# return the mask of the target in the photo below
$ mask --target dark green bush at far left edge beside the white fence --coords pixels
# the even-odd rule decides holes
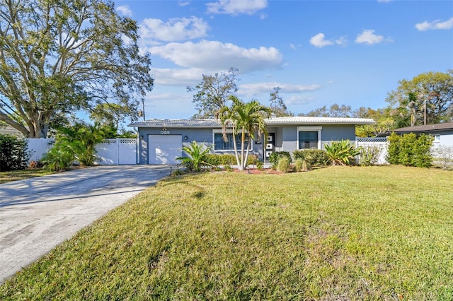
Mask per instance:
[[[24,170],[30,158],[27,150],[25,139],[0,134],[0,171]]]

